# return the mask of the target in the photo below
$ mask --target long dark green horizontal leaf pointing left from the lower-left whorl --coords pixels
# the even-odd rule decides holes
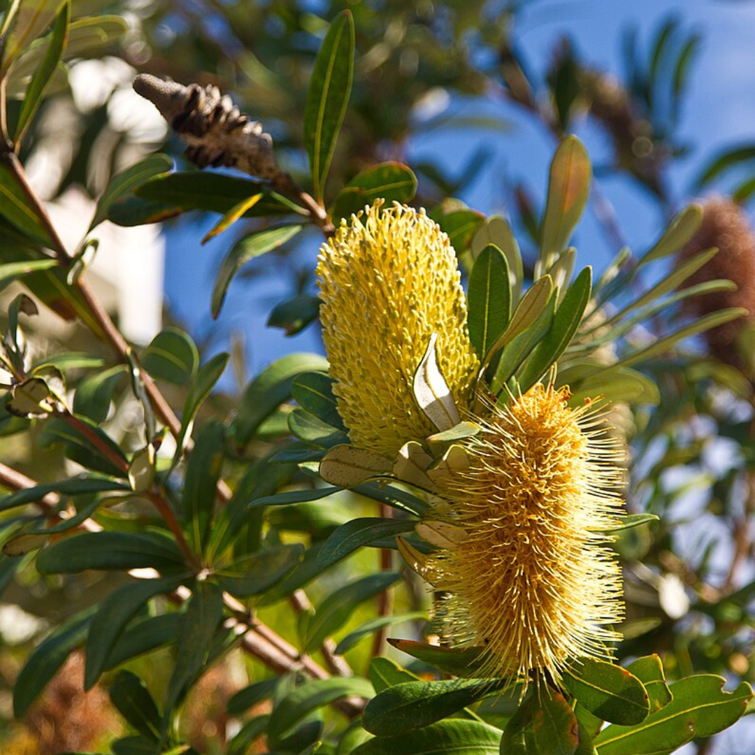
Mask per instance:
[[[78,574],[86,569],[124,572],[149,566],[175,571],[183,566],[183,556],[174,541],[154,532],[84,532],[37,556],[40,574]]]

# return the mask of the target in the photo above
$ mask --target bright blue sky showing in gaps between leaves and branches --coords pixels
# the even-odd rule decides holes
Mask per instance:
[[[755,2],[747,0],[539,0],[523,14],[519,24],[519,45],[541,71],[550,60],[556,42],[564,35],[574,42],[579,54],[593,66],[621,75],[621,32],[629,24],[639,29],[646,43],[658,23],[678,14],[683,29],[703,36],[700,54],[684,103],[680,135],[695,148],[692,155],[673,171],[673,196],[683,203],[689,185],[701,165],[724,146],[755,141]],[[529,116],[511,106],[492,106],[512,122],[505,134],[485,131],[446,132],[419,135],[408,150],[408,163],[427,157],[442,159],[451,171],[458,170],[485,140],[492,157],[479,180],[464,196],[471,206],[486,213],[506,213],[501,196],[501,174],[525,179],[538,199],[544,196],[547,168],[553,140]],[[606,150],[604,137],[578,129],[595,162]],[[602,193],[612,202],[622,233],[635,251],[650,245],[662,228],[657,205],[623,177],[600,180]],[[205,247],[199,239],[214,222],[203,226],[184,224],[168,233],[165,290],[171,310],[196,337],[207,338],[209,353],[229,348],[229,334],[242,334],[248,353],[250,374],[290,351],[319,348],[312,330],[293,338],[265,327],[270,309],[288,296],[291,282],[267,274],[256,281],[236,279],[230,286],[220,319],[212,322],[209,301],[217,266],[230,244],[220,236]],[[301,264],[313,265],[321,239],[310,236],[299,252]],[[615,253],[587,212],[576,236],[582,265],[605,266]],[[252,265],[259,265],[257,260]],[[230,385],[228,386],[230,387]]]

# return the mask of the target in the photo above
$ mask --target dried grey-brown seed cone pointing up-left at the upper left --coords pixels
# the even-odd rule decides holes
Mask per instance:
[[[238,168],[272,182],[284,179],[273,153],[273,139],[214,86],[183,86],[141,73],[134,91],[160,111],[189,147],[186,155],[200,168]]]

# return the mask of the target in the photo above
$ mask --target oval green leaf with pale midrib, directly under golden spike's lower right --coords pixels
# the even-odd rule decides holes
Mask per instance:
[[[593,715],[632,726],[650,712],[643,683],[629,671],[607,661],[582,658],[563,675],[563,685]]]

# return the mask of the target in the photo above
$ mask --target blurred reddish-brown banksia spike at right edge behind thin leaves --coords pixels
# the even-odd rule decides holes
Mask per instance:
[[[704,202],[702,225],[680,251],[678,261],[689,260],[713,247],[718,248],[718,254],[687,279],[686,285],[728,279],[735,282],[737,288],[689,297],[684,307],[689,315],[696,317],[727,307],[744,307],[749,316],[707,331],[705,340],[708,351],[716,359],[738,369],[749,369],[750,359],[745,358],[737,340],[741,331],[755,319],[755,236],[744,210],[726,197],[714,197]]]

